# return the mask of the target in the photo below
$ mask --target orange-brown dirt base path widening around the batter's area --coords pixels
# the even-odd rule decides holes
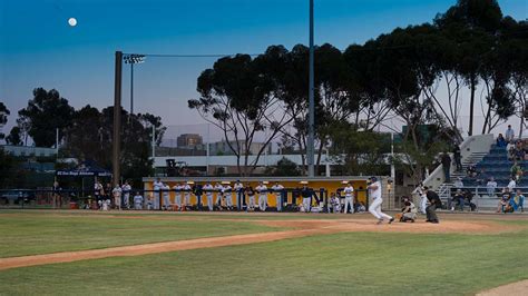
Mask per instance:
[[[186,217],[185,219],[187,219]],[[239,221],[239,219],[238,219]],[[56,263],[70,263],[87,259],[99,259],[108,257],[139,256],[166,251],[214,248],[224,246],[236,246],[255,243],[275,241],[289,238],[299,238],[312,235],[327,235],[346,231],[372,231],[372,233],[461,233],[461,234],[490,234],[502,231],[516,231],[521,229],[515,226],[505,226],[491,221],[463,221],[447,220],[441,224],[402,224],[375,225],[372,219],[335,219],[335,220],[258,220],[256,223],[271,227],[287,227],[289,230],[257,233],[246,235],[233,235],[223,237],[207,237],[178,241],[151,243],[133,246],[110,247],[104,249],[62,251],[43,255],[0,258],[0,270],[17,267],[37,266]],[[293,229],[292,229],[293,228]]]

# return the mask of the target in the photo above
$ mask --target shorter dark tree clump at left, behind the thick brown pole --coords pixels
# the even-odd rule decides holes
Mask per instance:
[[[2,135],[7,144],[27,145],[30,138],[37,147],[55,147],[58,129],[60,157],[91,160],[102,168],[111,169],[114,106],[101,110],[90,105],[75,109],[55,89],[36,88],[32,95],[27,107],[18,111],[17,125],[9,135]],[[0,108],[3,108],[3,115],[10,114],[3,103]],[[0,119],[3,125],[7,122],[7,117]],[[166,129],[160,117],[150,114],[130,115],[121,108],[120,162],[124,178],[140,180],[141,177],[153,176],[153,126],[159,144]],[[9,161],[13,167],[13,161]]]

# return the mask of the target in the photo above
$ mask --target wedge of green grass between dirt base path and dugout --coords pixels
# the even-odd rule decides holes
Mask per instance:
[[[0,215],[0,257],[284,230],[251,221]]]

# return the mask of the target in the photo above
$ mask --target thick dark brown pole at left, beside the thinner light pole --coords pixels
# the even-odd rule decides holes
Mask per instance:
[[[114,80],[114,135],[113,135],[113,179],[114,185],[120,179],[120,152],[121,152],[121,72],[123,72],[123,52],[116,51],[116,68]]]

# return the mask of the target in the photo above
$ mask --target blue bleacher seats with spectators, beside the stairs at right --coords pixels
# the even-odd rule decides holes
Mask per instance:
[[[517,161],[522,171],[528,170],[528,160]],[[487,156],[476,165],[479,175],[477,177],[465,177],[462,179],[466,187],[486,187],[488,179],[493,177],[498,188],[506,187],[510,180],[512,160],[508,160],[506,148],[497,147],[495,144]],[[528,187],[528,176],[520,178],[518,187]]]

